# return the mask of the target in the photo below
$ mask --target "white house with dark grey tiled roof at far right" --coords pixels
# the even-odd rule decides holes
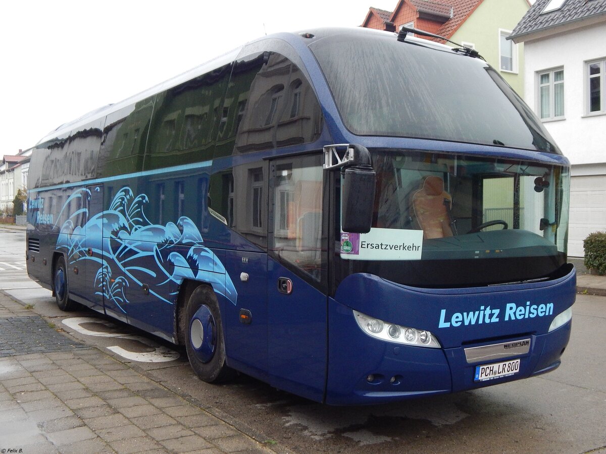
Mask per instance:
[[[606,0],[537,0],[524,42],[525,101],[572,164],[568,255],[606,231]]]

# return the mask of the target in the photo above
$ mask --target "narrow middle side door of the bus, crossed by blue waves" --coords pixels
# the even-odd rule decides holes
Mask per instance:
[[[85,224],[84,251],[87,255],[85,266],[86,301],[84,303],[103,312],[103,185],[87,186],[88,220]]]

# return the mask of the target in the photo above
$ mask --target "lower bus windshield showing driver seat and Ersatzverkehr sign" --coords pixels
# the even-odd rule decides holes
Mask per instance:
[[[441,287],[545,278],[564,265],[567,168],[437,152],[371,154],[372,228],[360,235],[357,254],[341,250],[344,272]],[[416,246],[377,254],[373,249],[388,248],[389,237]]]

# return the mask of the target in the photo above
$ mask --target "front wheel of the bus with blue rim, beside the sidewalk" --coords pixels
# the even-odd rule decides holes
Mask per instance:
[[[185,316],[185,349],[198,378],[222,383],[235,377],[235,371],[225,363],[221,311],[213,289],[196,288],[185,306]]]

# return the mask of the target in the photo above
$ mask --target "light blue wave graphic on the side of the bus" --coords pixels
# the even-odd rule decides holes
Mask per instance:
[[[90,196],[89,189],[78,189],[62,211],[73,200],[90,200]],[[62,225],[57,246],[66,251],[72,265],[81,260],[98,263],[95,294],[113,301],[125,313],[127,288],[145,284],[150,295],[173,304],[184,279],[210,283],[235,305],[238,292],[221,261],[203,245],[195,223],[184,216],[176,223],[153,224],[145,217],[147,203],[145,194],[135,197],[124,187],[107,211],[93,215],[84,226],[76,224],[80,215],[88,217],[88,209],[77,209]],[[87,254],[89,248],[92,255]]]

